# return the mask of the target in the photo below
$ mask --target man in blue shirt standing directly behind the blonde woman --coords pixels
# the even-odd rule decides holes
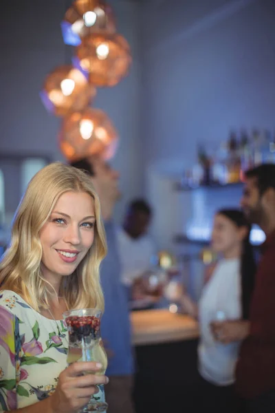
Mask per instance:
[[[111,383],[109,389],[105,389],[109,403],[108,413],[133,413],[134,363],[131,324],[126,288],[121,282],[122,269],[113,222],[113,209],[120,198],[119,173],[98,157],[78,160],[73,162],[72,166],[86,171],[94,184],[100,198],[107,237],[108,253],[101,264],[100,275],[105,301],[101,333],[109,354],[107,375]]]

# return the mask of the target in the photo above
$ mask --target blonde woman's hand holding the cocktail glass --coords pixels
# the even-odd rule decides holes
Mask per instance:
[[[106,376],[91,374],[101,367],[100,363],[94,361],[78,361],[63,370],[58,378],[56,390],[50,396],[52,412],[76,413],[89,403],[91,396],[98,392],[97,385],[109,382]]]

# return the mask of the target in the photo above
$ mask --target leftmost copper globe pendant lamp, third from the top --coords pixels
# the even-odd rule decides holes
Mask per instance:
[[[41,92],[45,108],[56,116],[84,109],[95,96],[96,88],[72,65],[59,66],[48,74]]]

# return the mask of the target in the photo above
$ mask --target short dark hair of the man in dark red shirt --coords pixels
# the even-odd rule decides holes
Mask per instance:
[[[245,178],[256,178],[260,195],[269,188],[275,189],[275,165],[263,164],[245,172]]]

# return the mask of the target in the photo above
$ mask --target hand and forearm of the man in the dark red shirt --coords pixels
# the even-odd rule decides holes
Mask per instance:
[[[246,320],[212,321],[210,328],[217,341],[228,344],[248,337],[250,322]]]

